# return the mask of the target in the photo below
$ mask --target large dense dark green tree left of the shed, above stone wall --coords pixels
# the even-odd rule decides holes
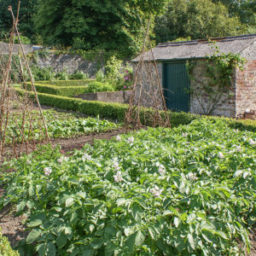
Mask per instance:
[[[159,14],[167,0],[39,0],[35,26],[48,44],[137,52],[141,21]],[[79,40],[78,40],[79,39]]]

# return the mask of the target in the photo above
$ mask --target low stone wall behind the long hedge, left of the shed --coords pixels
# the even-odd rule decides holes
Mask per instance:
[[[126,103],[130,102],[131,90],[119,90],[119,91],[101,91],[96,93],[85,93],[75,96],[86,101],[97,101],[97,102],[118,102]]]

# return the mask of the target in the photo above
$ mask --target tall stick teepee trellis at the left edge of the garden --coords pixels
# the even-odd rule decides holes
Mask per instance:
[[[38,143],[49,142],[46,121],[20,40],[19,9],[20,1],[15,17],[9,7],[13,20],[9,36],[9,54],[5,55],[4,51],[1,53],[0,49],[0,160],[3,160],[4,156],[19,157],[23,152],[34,150]],[[15,37],[19,42],[18,55],[17,52],[14,55]],[[31,91],[27,90],[27,78],[30,79]],[[23,90],[20,90],[20,93],[15,90],[14,84],[17,82],[22,84]],[[31,96],[34,97],[35,104]],[[37,137],[34,130],[37,130]]]

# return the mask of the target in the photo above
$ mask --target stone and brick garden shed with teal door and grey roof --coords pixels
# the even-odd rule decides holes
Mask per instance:
[[[212,44],[212,42],[215,42]],[[239,54],[245,58],[243,70],[236,67],[232,71],[231,86],[219,98],[210,114],[230,118],[241,116],[245,112],[256,110],[256,34],[228,38],[212,38],[209,40],[194,40],[187,42],[172,42],[158,44],[152,51],[144,53],[144,62],[153,63],[159,73],[166,107],[174,111],[190,113],[206,113],[210,96],[202,92],[200,99],[192,93],[200,90],[206,82],[207,56],[218,53]],[[139,62],[138,56],[133,62]],[[195,68],[193,78],[189,75],[186,63],[193,60]],[[212,64],[214,65],[214,64]],[[142,88],[149,90],[148,80],[143,79]],[[151,85],[150,85],[151,86]],[[157,87],[155,87],[157,90]],[[150,107],[150,102],[141,100],[142,104]]]

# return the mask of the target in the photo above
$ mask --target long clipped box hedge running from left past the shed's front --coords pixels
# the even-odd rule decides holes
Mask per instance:
[[[20,93],[20,95],[24,94],[24,90],[16,90]],[[102,118],[117,119],[119,122],[124,121],[125,112],[128,108],[128,105],[126,104],[84,101],[82,99],[69,98],[65,96],[53,96],[44,93],[38,93],[38,98],[43,105],[73,110],[75,112],[84,113],[90,116],[100,115]],[[142,110],[142,123],[144,125],[152,125],[154,120],[150,120],[148,117],[152,116],[154,110],[152,108],[142,108]],[[193,113],[177,113],[171,111],[168,111],[168,114],[170,116],[172,127],[178,125],[189,125],[189,123],[194,119],[211,119],[212,121],[222,119],[234,129],[256,132],[256,121],[253,120],[236,120],[224,117],[201,116]]]

